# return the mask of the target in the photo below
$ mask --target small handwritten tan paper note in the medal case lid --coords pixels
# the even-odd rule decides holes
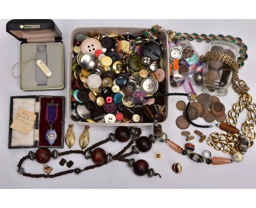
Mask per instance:
[[[34,126],[34,121],[36,121],[36,114],[20,108],[10,127],[21,133],[28,134]]]

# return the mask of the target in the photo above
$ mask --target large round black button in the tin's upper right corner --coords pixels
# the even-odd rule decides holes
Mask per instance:
[[[149,56],[152,62],[160,59],[162,55],[162,48],[156,42],[150,41],[144,44],[142,49],[142,56]]]

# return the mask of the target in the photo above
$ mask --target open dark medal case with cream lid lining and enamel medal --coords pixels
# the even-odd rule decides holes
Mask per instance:
[[[19,109],[36,114],[34,127],[28,133],[12,129]],[[10,97],[9,149],[63,148],[65,130],[64,96],[13,96]]]

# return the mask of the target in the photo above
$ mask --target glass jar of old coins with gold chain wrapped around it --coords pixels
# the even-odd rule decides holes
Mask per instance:
[[[237,60],[239,47],[231,42],[214,41],[210,51],[227,54]],[[203,65],[202,91],[212,95],[226,95],[232,78],[232,69],[220,60],[211,59]]]

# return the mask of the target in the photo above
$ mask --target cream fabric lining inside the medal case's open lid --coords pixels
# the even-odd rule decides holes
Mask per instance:
[[[19,108],[35,113],[36,99],[35,98],[15,98],[13,99],[13,118]],[[36,133],[37,132],[37,133]],[[29,134],[20,133],[12,130],[11,146],[33,146],[34,140],[38,140],[38,131],[34,131],[34,127]]]

